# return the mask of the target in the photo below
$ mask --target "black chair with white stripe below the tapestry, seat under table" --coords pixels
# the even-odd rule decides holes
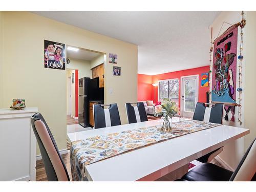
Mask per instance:
[[[216,103],[216,104],[212,103],[212,104],[210,104],[210,105],[212,105],[211,107],[205,106],[206,104],[208,105],[209,103],[200,103],[200,102],[197,103],[193,119],[199,120],[199,121],[222,124],[224,104],[223,103]],[[220,147],[217,150],[212,151],[212,152],[198,158],[197,160],[202,163],[206,163],[206,162],[209,163],[212,159],[214,159],[222,151],[223,151],[223,147]]]

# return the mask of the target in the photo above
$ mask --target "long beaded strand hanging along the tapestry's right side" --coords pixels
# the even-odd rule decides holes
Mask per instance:
[[[242,68],[242,60],[243,60],[243,28],[245,26],[245,19],[244,19],[244,12],[242,11],[241,13],[242,15],[242,20],[240,23],[240,29],[241,29],[241,33],[240,33],[240,54],[238,56],[239,59],[239,73],[238,73],[238,122],[241,124],[241,92],[242,92],[242,88],[241,88],[241,68]]]

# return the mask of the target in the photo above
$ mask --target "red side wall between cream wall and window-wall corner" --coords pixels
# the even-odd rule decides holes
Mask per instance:
[[[138,101],[152,100],[152,76],[138,74]]]

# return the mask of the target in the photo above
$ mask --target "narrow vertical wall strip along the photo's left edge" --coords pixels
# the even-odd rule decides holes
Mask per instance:
[[[3,108],[3,12],[0,11],[0,108]]]

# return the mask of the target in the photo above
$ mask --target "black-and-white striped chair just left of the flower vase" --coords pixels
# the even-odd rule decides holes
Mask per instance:
[[[132,104],[137,104],[132,106]],[[127,119],[129,123],[147,121],[146,111],[143,102],[125,103]]]

